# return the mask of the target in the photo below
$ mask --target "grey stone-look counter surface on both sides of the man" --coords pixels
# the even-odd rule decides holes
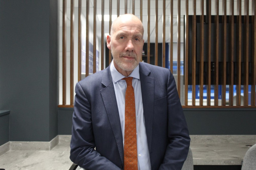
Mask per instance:
[[[240,165],[246,145],[255,144],[255,135],[191,135],[194,165]],[[69,138],[69,137],[68,137]],[[68,170],[69,140],[60,140],[50,151],[10,150],[0,156],[0,169]]]

